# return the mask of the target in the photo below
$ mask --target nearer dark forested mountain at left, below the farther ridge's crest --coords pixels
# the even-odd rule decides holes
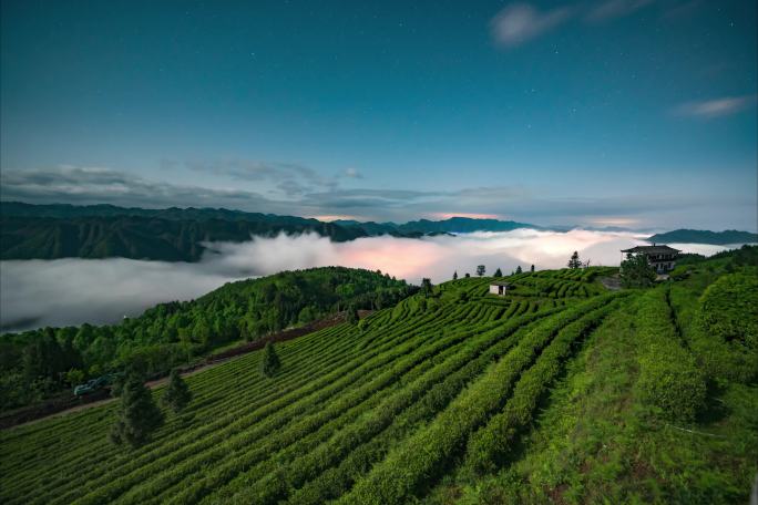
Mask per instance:
[[[0,258],[122,257],[197,261],[205,250],[203,241],[242,243],[252,236],[270,237],[280,233],[316,233],[335,241],[366,236],[356,228],[342,228],[315,219],[277,219],[277,216],[257,219],[238,215],[226,219],[208,215],[218,212],[175,214],[167,212],[161,217],[31,217],[3,214],[0,216]],[[193,214],[197,214],[197,217],[187,217]]]

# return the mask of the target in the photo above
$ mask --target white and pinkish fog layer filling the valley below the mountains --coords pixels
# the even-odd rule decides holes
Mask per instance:
[[[43,326],[117,322],[171,300],[187,300],[224,282],[281,270],[329,265],[380,269],[418,284],[422,277],[442,282],[478,265],[488,272],[510,274],[532,264],[561,268],[578,250],[592,265],[618,265],[619,250],[642,244],[624,233],[572,230],[565,234],[518,229],[424,239],[361,238],[332,243],[316,235],[256,237],[243,244],[213,244],[197,264],[131,259],[58,259],[0,261],[0,326],[3,331]],[[674,245],[710,255],[721,246]]]

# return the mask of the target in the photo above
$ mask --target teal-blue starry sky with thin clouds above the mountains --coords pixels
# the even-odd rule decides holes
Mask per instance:
[[[3,199],[756,229],[755,1],[3,1]]]

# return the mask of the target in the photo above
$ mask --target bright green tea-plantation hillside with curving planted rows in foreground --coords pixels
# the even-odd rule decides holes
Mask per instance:
[[[433,286],[277,344],[270,379],[264,352],[190,377],[137,449],[107,442],[115,404],[3,431],[0,501],[745,503],[758,387],[701,347],[758,352],[740,254],[649,289],[596,267]]]

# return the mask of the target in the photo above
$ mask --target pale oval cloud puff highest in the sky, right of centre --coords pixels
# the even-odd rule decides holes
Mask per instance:
[[[567,7],[541,12],[529,3],[512,3],[492,19],[490,29],[495,43],[512,48],[557,27],[571,13]]]

